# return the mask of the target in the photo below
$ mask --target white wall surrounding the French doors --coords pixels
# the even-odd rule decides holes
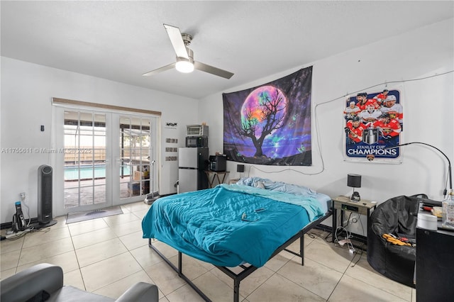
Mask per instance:
[[[1,57],[1,140],[0,148],[52,148],[52,97],[114,106],[161,111],[162,147],[170,147],[165,138],[177,138],[184,146],[185,125],[200,123],[197,100],[160,91],[111,82],[84,74],[67,72],[28,62]],[[178,108],[178,109],[177,109]],[[166,127],[177,122],[177,129]],[[40,125],[45,131],[40,131]],[[176,193],[177,162],[165,162],[161,152],[160,194]],[[173,154],[177,155],[177,153]],[[14,202],[26,192],[31,218],[38,216],[38,167],[55,162],[55,155],[1,153],[1,223],[11,222]],[[54,188],[54,204],[62,203],[62,191]],[[54,215],[59,207],[54,206]]]

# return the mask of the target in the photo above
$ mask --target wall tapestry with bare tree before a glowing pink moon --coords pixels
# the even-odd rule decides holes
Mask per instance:
[[[224,154],[253,164],[310,166],[312,67],[223,94]]]

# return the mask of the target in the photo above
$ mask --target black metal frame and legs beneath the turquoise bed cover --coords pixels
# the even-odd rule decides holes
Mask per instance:
[[[282,250],[285,250],[289,253],[292,253],[293,255],[297,255],[297,256],[301,257],[301,265],[304,265],[304,234],[309,232],[309,230],[312,230],[313,228],[315,228],[323,220],[330,217],[332,214],[333,214],[333,210],[330,210],[321,218],[314,220],[313,222],[306,225],[297,234],[293,235],[289,240],[284,242],[283,245],[278,247],[277,250],[275,250],[275,252],[272,253],[270,259],[272,259],[272,257],[275,257],[277,254],[279,254],[279,252],[282,252]],[[291,245],[293,242],[295,242],[297,239],[299,239],[299,253],[293,252],[292,250],[287,250],[287,247],[289,245]],[[167,257],[165,257],[165,255],[163,255],[159,250],[157,250],[157,247],[153,246],[153,244],[151,242],[151,238],[148,239],[148,246],[151,247],[155,252],[157,252],[157,255],[160,255],[160,257],[165,262],[167,262],[167,264],[169,264],[170,267],[172,267],[172,269],[174,269],[175,272],[177,272],[178,276],[180,278],[182,278],[184,281],[186,281],[187,284],[189,284],[189,286],[191,286],[192,289],[194,289],[194,291],[196,291],[196,293],[199,293],[201,298],[203,298],[207,302],[211,302],[211,299],[208,298],[203,293],[203,291],[201,291],[191,280],[189,280],[189,278],[187,276],[185,276],[183,274],[182,252],[178,251],[178,267],[175,267],[175,265],[172,262],[170,262],[170,260],[167,259]],[[233,279],[233,301],[234,302],[240,301],[240,281],[242,281],[243,279],[245,279],[247,276],[249,276],[250,274],[255,272],[255,270],[258,269],[258,267],[254,267],[253,265],[246,266],[246,265],[241,264],[239,267],[241,267],[243,269],[243,271],[239,272],[239,273],[235,273],[228,267],[218,267],[217,265],[215,265],[215,267],[217,267],[222,272],[224,272],[227,276],[230,276]]]

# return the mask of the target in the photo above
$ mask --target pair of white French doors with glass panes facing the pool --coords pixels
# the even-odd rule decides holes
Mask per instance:
[[[129,113],[56,108],[63,123],[56,131],[55,166],[62,173],[63,212],[143,200],[157,191],[157,117]],[[58,118],[60,117],[60,118]]]

